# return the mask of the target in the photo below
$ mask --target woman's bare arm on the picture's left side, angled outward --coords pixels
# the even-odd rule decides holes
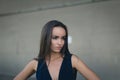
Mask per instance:
[[[30,61],[25,68],[14,78],[14,80],[25,80],[30,77],[33,73],[35,73],[37,69],[38,61],[32,60]]]

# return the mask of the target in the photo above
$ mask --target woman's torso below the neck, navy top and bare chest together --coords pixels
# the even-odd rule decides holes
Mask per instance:
[[[76,80],[76,69],[72,68],[71,57],[50,63],[39,61],[36,71],[37,80]]]

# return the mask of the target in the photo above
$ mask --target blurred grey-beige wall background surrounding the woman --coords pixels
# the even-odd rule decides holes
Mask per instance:
[[[41,29],[53,19],[68,26],[71,53],[101,80],[120,80],[120,0],[0,0],[0,80],[38,55]]]

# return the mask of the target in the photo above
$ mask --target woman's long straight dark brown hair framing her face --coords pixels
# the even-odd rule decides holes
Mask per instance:
[[[69,53],[68,49],[68,30],[66,25],[64,25],[62,22],[57,20],[52,20],[47,22],[41,32],[41,41],[40,41],[40,51],[38,54],[38,59],[45,59],[46,56],[49,56],[50,58],[50,45],[51,45],[51,36],[52,36],[52,30],[54,27],[62,27],[66,32],[66,38],[63,48],[61,49],[61,54],[65,55]]]

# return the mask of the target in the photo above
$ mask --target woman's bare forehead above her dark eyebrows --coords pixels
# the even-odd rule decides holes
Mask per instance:
[[[64,28],[58,26],[53,28],[52,35],[65,36],[66,32]]]

